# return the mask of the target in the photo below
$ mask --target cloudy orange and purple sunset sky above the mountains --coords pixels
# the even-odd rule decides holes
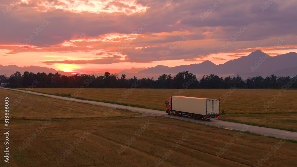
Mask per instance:
[[[0,64],[138,72],[297,52],[293,0],[0,0]]]

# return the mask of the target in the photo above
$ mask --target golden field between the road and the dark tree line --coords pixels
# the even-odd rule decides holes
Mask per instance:
[[[165,110],[165,101],[171,96],[190,96],[220,99],[222,120],[249,123],[270,128],[297,130],[297,90],[253,90],[253,89],[72,89],[34,88],[33,91],[62,94],[70,93],[91,100],[118,101]],[[178,93],[182,91],[182,93]],[[79,93],[77,93],[79,92]],[[281,93],[271,106],[268,100]],[[222,115],[222,110],[225,114]]]

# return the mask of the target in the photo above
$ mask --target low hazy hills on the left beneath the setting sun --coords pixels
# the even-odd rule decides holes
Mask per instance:
[[[0,65],[0,74],[1,75],[7,75],[9,77],[11,74],[15,73],[16,71],[19,71],[21,74],[23,74],[25,71],[28,72],[45,72],[46,74],[53,73],[56,74],[58,72],[62,75],[73,75],[70,72],[64,72],[64,71],[56,71],[52,68],[46,68],[46,67],[38,67],[38,66],[29,66],[29,67],[18,67],[16,65],[9,65],[9,66],[2,66]]]

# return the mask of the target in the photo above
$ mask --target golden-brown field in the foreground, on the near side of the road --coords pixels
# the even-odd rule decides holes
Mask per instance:
[[[105,107],[0,89],[10,103],[20,96],[10,111],[9,166],[253,166],[268,152],[262,166],[297,165],[290,141],[127,110],[106,117]]]

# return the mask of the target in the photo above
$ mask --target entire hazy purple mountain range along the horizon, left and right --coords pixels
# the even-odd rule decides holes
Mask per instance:
[[[0,74],[7,74],[9,77],[15,71],[19,71],[23,74],[25,71],[29,72],[45,72],[53,73],[59,72],[62,75],[73,75],[70,72],[56,71],[55,69],[49,69],[46,67],[29,66],[29,67],[18,67],[16,65],[2,66],[0,65]],[[248,77],[256,77],[258,75],[262,77],[271,76],[272,74],[280,77],[296,76],[297,75],[297,53],[290,52],[283,55],[269,56],[260,50],[252,52],[247,56],[227,61],[224,64],[216,65],[211,61],[204,61],[199,64],[181,65],[175,67],[168,66],[155,66],[152,68],[144,69],[138,73],[128,73],[127,71],[121,71],[118,76],[126,74],[127,78],[136,76],[140,78],[154,78],[157,79],[161,74],[172,74],[175,75],[178,72],[189,71],[197,76],[198,79],[202,78],[203,75],[216,74],[219,77],[235,77],[241,76],[242,79]],[[92,74],[90,74],[92,75]],[[103,74],[95,74],[95,76]]]

